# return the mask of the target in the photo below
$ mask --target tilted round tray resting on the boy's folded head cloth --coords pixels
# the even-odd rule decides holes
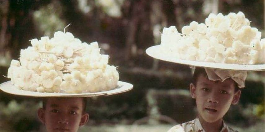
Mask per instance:
[[[189,66],[198,66],[212,69],[222,70],[237,70],[237,71],[263,71],[265,70],[265,64],[258,65],[239,65],[239,64],[227,64],[227,63],[215,63],[215,62],[197,62],[173,58],[159,53],[160,45],[155,45],[146,49],[146,53],[156,59],[173,62],[178,64],[184,64]]]

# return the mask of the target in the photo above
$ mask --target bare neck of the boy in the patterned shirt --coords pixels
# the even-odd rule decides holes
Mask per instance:
[[[201,126],[206,132],[220,132],[223,127],[222,118],[215,122],[206,122],[200,115],[198,116]]]

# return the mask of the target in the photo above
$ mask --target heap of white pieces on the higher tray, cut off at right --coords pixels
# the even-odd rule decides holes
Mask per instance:
[[[244,13],[209,14],[204,23],[164,28],[158,53],[184,60],[231,64],[264,64],[265,39],[249,26]]]

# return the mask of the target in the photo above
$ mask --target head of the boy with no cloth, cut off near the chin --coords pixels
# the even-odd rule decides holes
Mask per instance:
[[[82,98],[49,98],[46,108],[38,110],[38,117],[48,132],[76,132],[89,118],[83,113]]]

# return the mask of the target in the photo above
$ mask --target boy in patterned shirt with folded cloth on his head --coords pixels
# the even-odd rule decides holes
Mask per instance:
[[[198,116],[168,132],[233,132],[223,116],[231,104],[237,104],[245,87],[246,72],[214,70],[197,67],[190,84],[191,97],[196,100]]]

